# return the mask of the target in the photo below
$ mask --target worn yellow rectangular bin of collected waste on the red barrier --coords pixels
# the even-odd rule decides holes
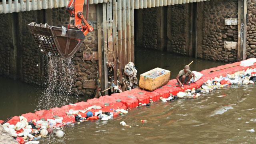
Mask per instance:
[[[154,74],[156,72],[156,75]],[[161,74],[158,74],[162,72]],[[164,86],[170,80],[170,71],[162,68],[154,68],[140,75],[139,87],[144,90],[153,91]]]

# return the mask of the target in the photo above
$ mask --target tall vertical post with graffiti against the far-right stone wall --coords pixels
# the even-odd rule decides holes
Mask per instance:
[[[247,0],[238,0],[237,61],[246,59]]]

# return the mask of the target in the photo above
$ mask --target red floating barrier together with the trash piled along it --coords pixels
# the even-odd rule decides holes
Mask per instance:
[[[144,106],[159,99],[165,102],[175,100],[178,97],[196,98],[200,96],[198,90],[200,92],[209,92],[215,88],[230,84],[254,83],[250,81],[250,78],[255,78],[251,76],[256,74],[256,64],[219,70],[238,64],[240,62],[202,70],[200,73],[203,76],[196,82],[185,85],[184,89],[174,87],[177,81],[172,79],[165,86],[152,92],[134,88],[122,93],[111,94],[111,96],[93,98],[87,100],[87,102],[78,102],[61,108],[56,107],[50,110],[39,110],[35,113],[29,112],[21,116],[14,116],[2,126],[20,144],[25,142],[26,144],[38,144],[40,138],[46,137],[50,133],[55,133],[57,137],[61,138],[63,136],[61,129],[69,124],[97,120],[99,118],[108,120],[119,114],[128,113],[130,108]],[[4,121],[0,120],[0,123],[2,122]],[[130,127],[125,122],[120,122],[120,124]]]

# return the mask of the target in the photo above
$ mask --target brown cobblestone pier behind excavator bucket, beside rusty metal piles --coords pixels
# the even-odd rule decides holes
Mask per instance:
[[[94,8],[90,6],[90,8]],[[95,19],[95,18],[94,18]],[[90,18],[90,20],[93,20]],[[96,19],[95,19],[96,20]],[[54,8],[52,9],[52,24],[54,26],[66,26],[69,24],[69,14],[66,12],[66,8]],[[96,61],[96,66],[91,60],[82,60],[83,52],[98,52],[98,32],[94,30],[86,35],[83,44],[74,54],[72,61],[74,62],[75,72],[73,78],[75,83],[72,84],[72,92],[76,92],[80,95],[92,96],[94,94],[94,89],[83,88],[83,83],[85,80],[97,79],[97,68],[98,61]]]

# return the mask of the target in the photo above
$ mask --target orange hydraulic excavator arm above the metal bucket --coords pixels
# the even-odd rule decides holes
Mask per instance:
[[[88,20],[88,6],[89,6],[89,0],[87,0],[86,4],[86,20]],[[70,22],[68,24],[68,29],[75,29],[78,28],[84,33],[84,36],[88,34],[89,32],[93,31],[93,27],[88,24],[88,22],[84,19],[84,16],[82,14],[84,7],[84,0],[70,0],[67,6],[67,10],[70,13]],[[84,24],[82,24],[82,21]]]

